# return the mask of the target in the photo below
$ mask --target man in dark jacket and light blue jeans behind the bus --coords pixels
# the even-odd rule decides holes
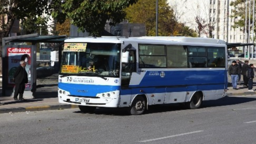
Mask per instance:
[[[232,65],[229,66],[229,68],[228,68],[228,74],[231,76],[231,79],[232,79],[233,90],[237,90],[237,88],[236,88],[237,79],[238,79],[238,75],[240,74],[240,72],[241,72],[241,69],[240,69],[239,65],[236,64],[235,60],[233,60]]]

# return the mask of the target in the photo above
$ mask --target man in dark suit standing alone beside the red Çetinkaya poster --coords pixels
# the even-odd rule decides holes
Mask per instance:
[[[28,83],[28,73],[25,70],[26,63],[25,61],[20,61],[20,66],[17,67],[13,77],[14,77],[14,83],[15,83],[15,91],[14,91],[14,100],[24,100],[23,99],[23,93],[25,90],[25,84]]]

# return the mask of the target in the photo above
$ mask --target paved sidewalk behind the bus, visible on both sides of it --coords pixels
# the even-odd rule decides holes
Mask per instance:
[[[243,60],[242,60],[243,61]],[[251,63],[255,63],[256,60]],[[241,95],[254,95],[255,92],[249,92],[248,88],[243,87],[243,82],[237,86],[239,90],[233,90],[231,85],[231,78],[228,77],[228,96],[241,96]],[[256,79],[254,80],[254,90],[256,88]],[[37,79],[37,92],[35,99],[26,101],[14,101],[12,97],[3,97],[0,95],[0,113],[9,112],[25,112],[25,111],[40,111],[48,109],[65,109],[65,108],[77,108],[76,105],[60,104],[57,96],[57,83],[58,74],[52,76]],[[2,83],[0,84],[0,93],[2,93]]]

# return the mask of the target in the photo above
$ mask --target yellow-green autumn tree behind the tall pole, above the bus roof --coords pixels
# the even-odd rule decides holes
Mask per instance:
[[[156,35],[156,0],[139,0],[126,8],[125,12],[129,22],[145,24],[147,36]],[[158,0],[158,35],[196,36],[196,33],[177,21],[174,10],[166,0]]]

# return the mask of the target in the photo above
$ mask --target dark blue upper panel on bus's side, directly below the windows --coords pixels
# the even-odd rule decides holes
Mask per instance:
[[[197,85],[197,84],[226,84],[226,70],[203,71],[147,71],[138,85],[130,87]],[[224,88],[224,87],[223,87]]]

